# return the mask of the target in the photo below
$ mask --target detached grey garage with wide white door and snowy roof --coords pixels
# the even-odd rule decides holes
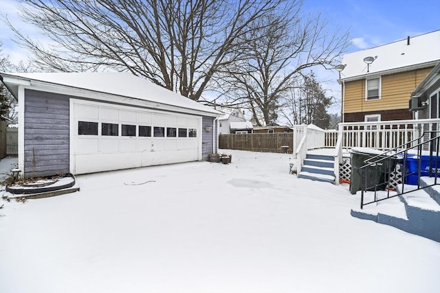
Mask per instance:
[[[25,177],[208,159],[218,111],[130,73],[0,73]]]

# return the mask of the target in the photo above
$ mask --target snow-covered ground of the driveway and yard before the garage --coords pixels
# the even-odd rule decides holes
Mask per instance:
[[[439,243],[351,217],[359,196],[292,154],[224,152],[2,200],[0,292],[438,292]]]

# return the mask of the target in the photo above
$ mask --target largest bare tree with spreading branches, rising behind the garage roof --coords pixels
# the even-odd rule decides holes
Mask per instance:
[[[130,71],[198,100],[244,36],[289,0],[21,0],[45,44],[10,27],[49,71]]]

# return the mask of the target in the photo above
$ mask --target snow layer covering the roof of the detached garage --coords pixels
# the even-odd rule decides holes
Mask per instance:
[[[47,82],[78,89],[109,93],[122,97],[132,97],[148,102],[157,102],[181,108],[200,110],[206,113],[221,115],[217,110],[195,102],[168,89],[153,84],[149,80],[131,73],[4,73],[28,80]],[[1,73],[3,75],[3,73]]]

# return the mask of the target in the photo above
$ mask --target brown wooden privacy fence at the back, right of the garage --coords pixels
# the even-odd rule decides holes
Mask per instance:
[[[292,132],[219,134],[219,148],[252,152],[286,152],[287,150],[292,154],[294,134]]]

